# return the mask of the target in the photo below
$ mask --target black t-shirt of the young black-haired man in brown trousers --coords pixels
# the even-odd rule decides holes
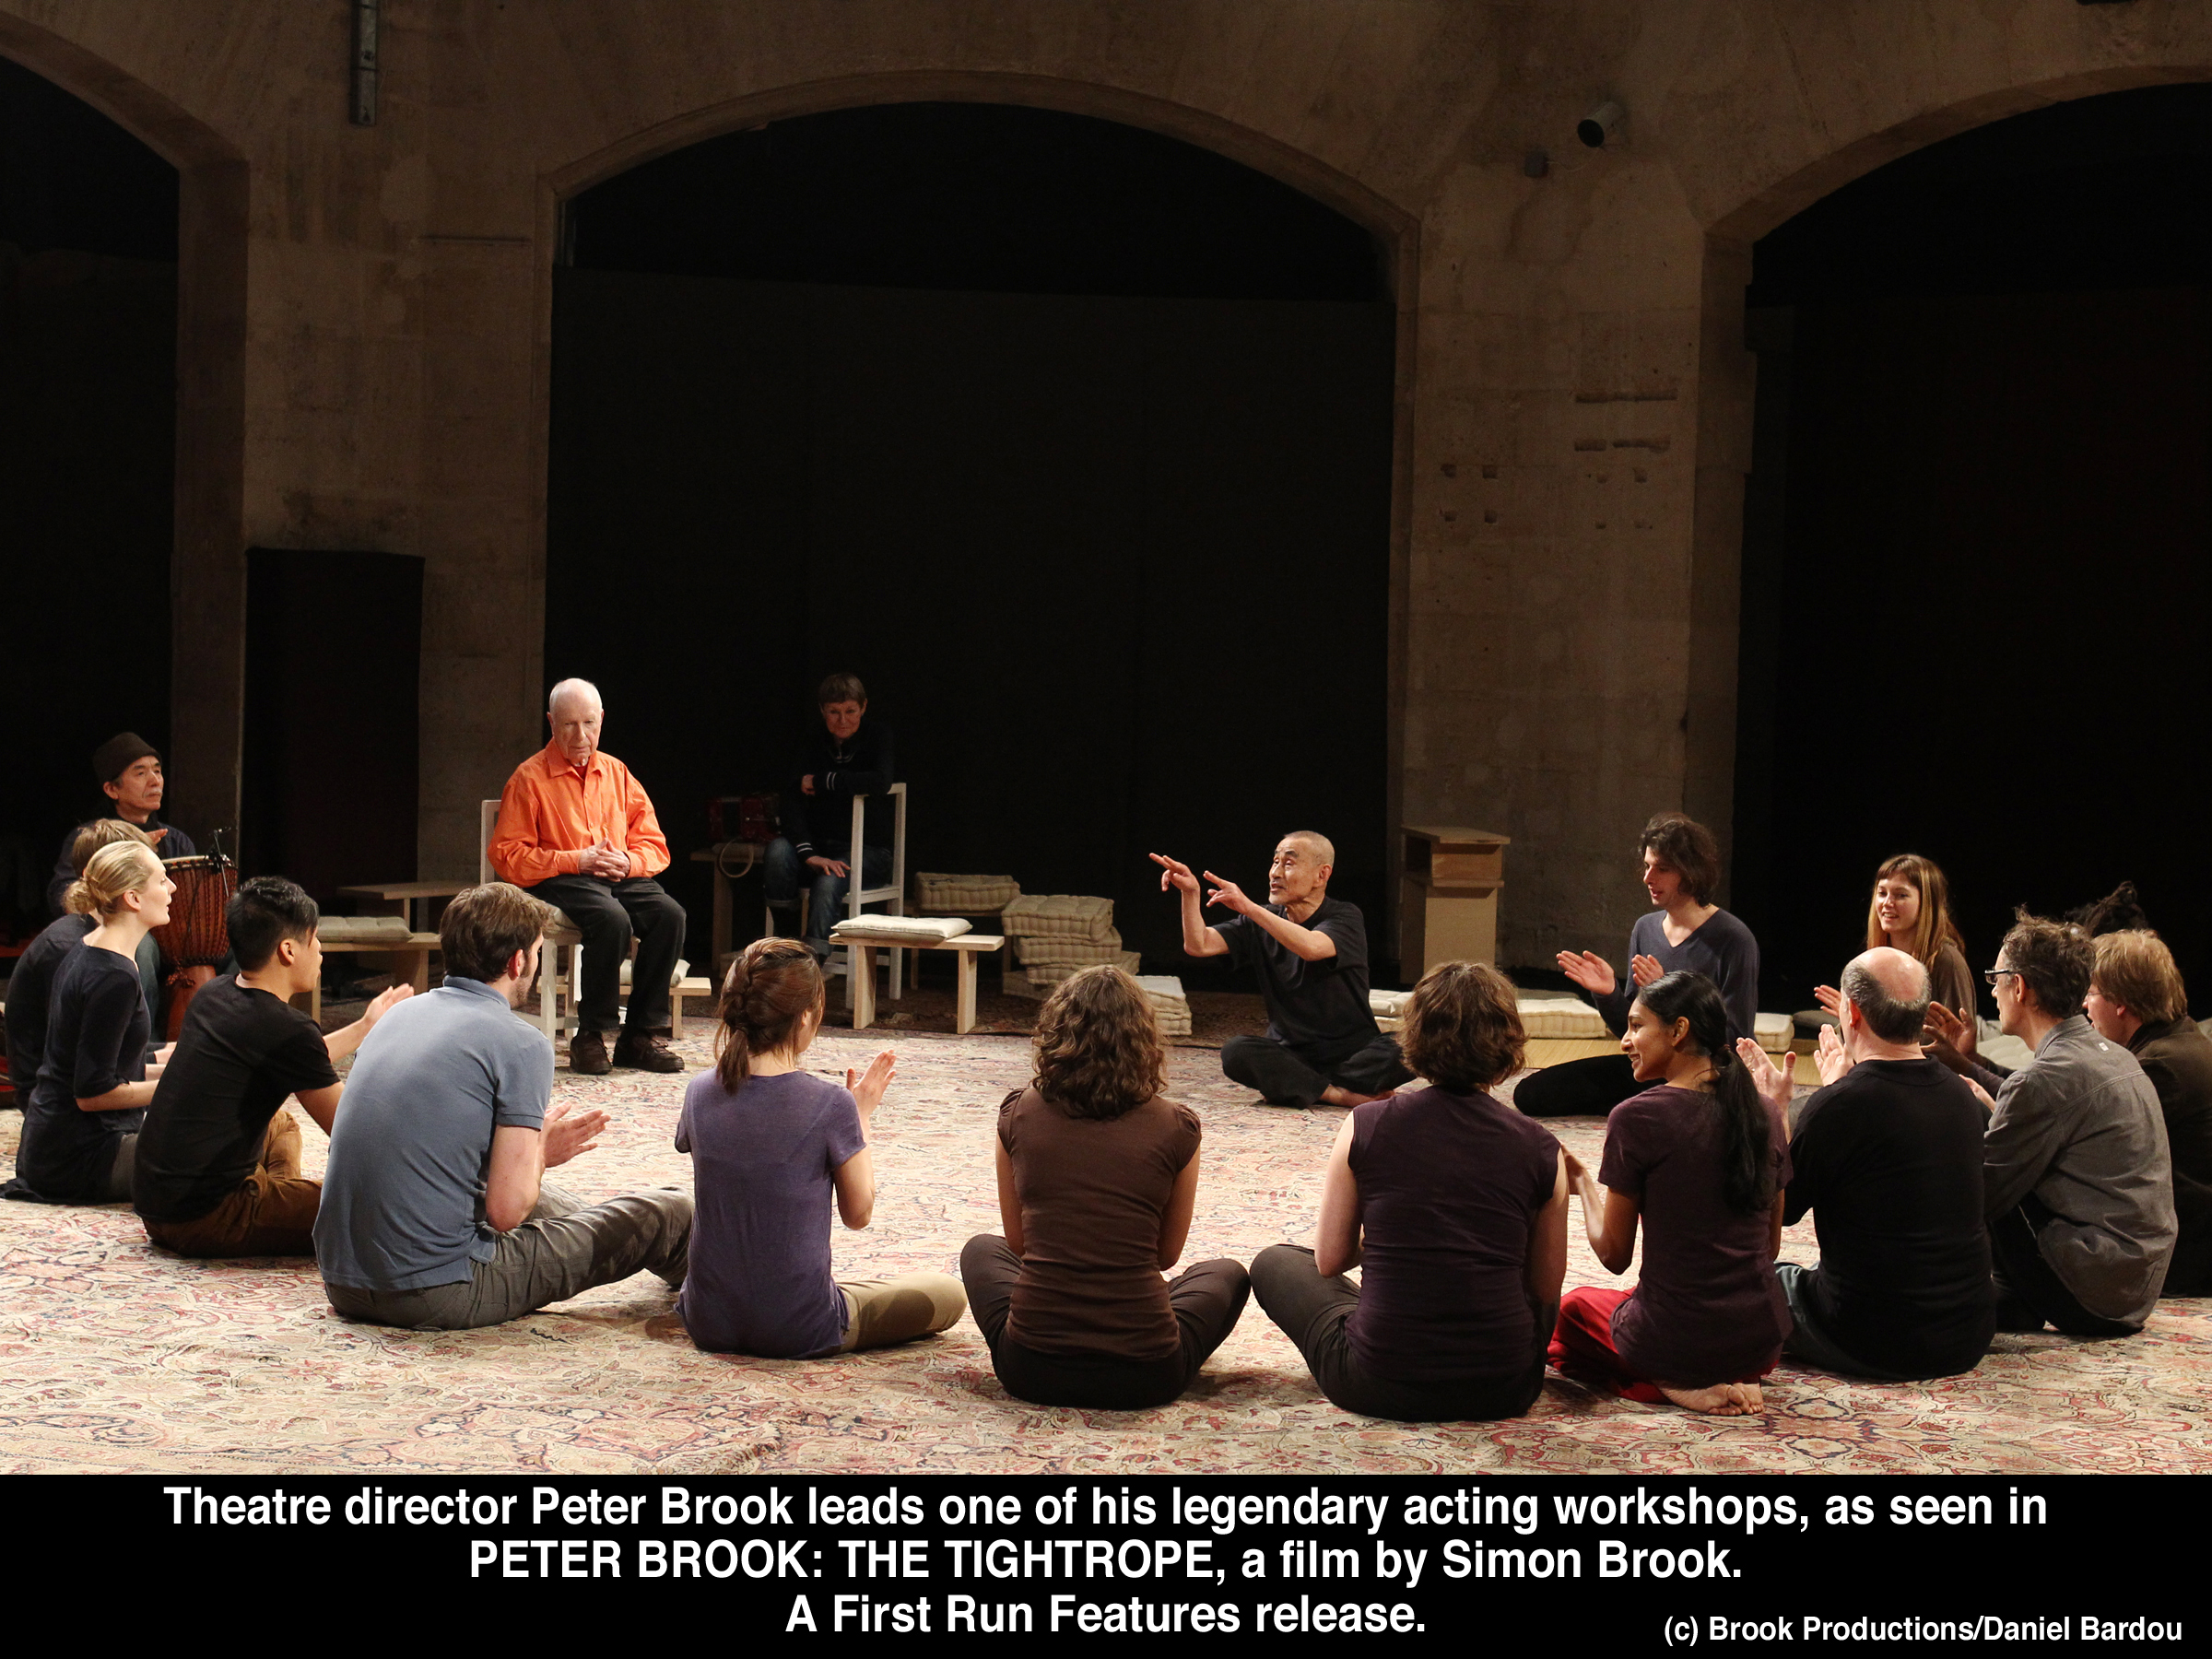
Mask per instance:
[[[334,1082],[314,1020],[234,973],[210,980],[192,998],[146,1108],[133,1206],[146,1221],[208,1214],[254,1172],[285,1097]]]

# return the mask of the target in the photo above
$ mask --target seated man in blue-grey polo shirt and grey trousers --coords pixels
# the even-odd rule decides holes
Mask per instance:
[[[409,1329],[467,1329],[639,1270],[684,1283],[692,1194],[586,1206],[544,1172],[588,1152],[606,1113],[551,1106],[553,1048],[515,1018],[553,907],[493,880],[445,909],[445,984],[363,1044],[330,1137],[314,1254],[330,1305]]]

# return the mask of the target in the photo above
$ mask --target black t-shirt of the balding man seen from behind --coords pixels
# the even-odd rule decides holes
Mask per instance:
[[[1805,1294],[1854,1358],[1951,1376],[1989,1352],[1986,1124],[1933,1060],[1863,1060],[1805,1102],[1785,1219],[1812,1210],[1820,1270]]]

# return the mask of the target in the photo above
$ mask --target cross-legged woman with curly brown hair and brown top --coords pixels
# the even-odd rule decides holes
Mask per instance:
[[[1237,1327],[1234,1261],[1183,1254],[1199,1197],[1199,1115],[1161,1097],[1166,1051],[1121,969],[1071,975],[1037,1013],[1035,1079],[998,1113],[1006,1237],[960,1252],[1006,1394],[1037,1405],[1168,1405]]]

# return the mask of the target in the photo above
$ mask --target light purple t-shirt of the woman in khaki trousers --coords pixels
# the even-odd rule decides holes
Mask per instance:
[[[677,1150],[692,1155],[690,1267],[677,1310],[708,1354],[807,1358],[845,1340],[845,1292],[830,1274],[836,1168],[867,1141],[838,1084],[787,1071],[732,1095],[692,1077]]]

